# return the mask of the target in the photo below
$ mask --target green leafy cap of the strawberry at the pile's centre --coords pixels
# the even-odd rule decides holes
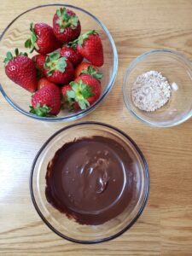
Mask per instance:
[[[44,62],[44,68],[48,70],[48,76],[51,76],[55,70],[64,73],[67,67],[66,60],[65,57],[60,57],[60,53],[57,51],[49,54]]]

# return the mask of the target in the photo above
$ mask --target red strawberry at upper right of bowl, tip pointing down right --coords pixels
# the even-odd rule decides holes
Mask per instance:
[[[95,30],[86,32],[74,40],[71,45],[77,45],[80,55],[90,61],[92,65],[102,67],[104,62],[102,41]]]

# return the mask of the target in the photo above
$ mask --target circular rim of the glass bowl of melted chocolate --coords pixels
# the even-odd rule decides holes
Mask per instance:
[[[146,174],[146,191],[145,191],[145,195],[144,195],[144,199],[143,199],[143,204],[140,207],[139,211],[137,212],[137,215],[135,218],[132,219],[131,223],[127,224],[125,226],[125,228],[123,230],[120,230],[118,233],[114,234],[113,236],[108,236],[102,239],[96,239],[96,240],[92,240],[92,241],[86,241],[86,240],[78,240],[78,239],[74,239],[72,237],[63,235],[60,231],[56,230],[51,224],[49,224],[49,221],[44,217],[44,214],[40,211],[40,209],[38,208],[38,204],[36,202],[35,199],[35,195],[33,193],[33,174],[34,174],[34,169],[38,160],[39,155],[42,153],[42,151],[44,150],[44,148],[61,132],[63,131],[67,131],[70,128],[73,128],[75,126],[82,126],[82,125],[100,125],[100,126],[104,126],[107,127],[117,133],[119,133],[120,135],[122,135],[123,137],[125,137],[126,140],[128,140],[137,150],[137,153],[140,155],[142,161],[143,161],[143,165],[144,165],[144,172]],[[51,137],[49,137],[49,139],[44,143],[44,145],[38,150],[38,154],[36,154],[35,159],[32,162],[32,168],[31,168],[31,173],[30,173],[30,178],[29,178],[29,189],[30,189],[30,195],[31,195],[31,199],[32,199],[32,203],[33,206],[35,207],[36,211],[38,212],[39,217],[44,221],[44,224],[46,224],[50,230],[52,230],[56,235],[61,236],[62,238],[66,239],[67,241],[73,241],[76,243],[81,243],[81,244],[96,244],[96,243],[100,243],[103,241],[110,241],[120,235],[122,235],[126,230],[129,230],[131,228],[131,226],[133,224],[136,223],[137,219],[141,216],[144,207],[146,206],[146,203],[148,201],[148,194],[149,194],[149,172],[148,172],[148,164],[147,161],[145,160],[145,157],[141,151],[140,148],[138,148],[137,143],[135,143],[131,137],[129,137],[124,131],[119,130],[119,128],[116,128],[112,125],[108,125],[102,122],[95,122],[95,121],[85,121],[85,122],[79,122],[79,123],[75,123],[73,125],[67,125],[63,128],[61,128],[59,131],[56,131]]]

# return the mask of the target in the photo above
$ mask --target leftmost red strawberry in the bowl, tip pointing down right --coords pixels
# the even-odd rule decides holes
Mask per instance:
[[[19,53],[18,49],[15,49],[15,57],[8,52],[5,63],[5,73],[15,82],[26,90],[31,92],[37,90],[37,73],[34,62],[27,57],[27,54]]]

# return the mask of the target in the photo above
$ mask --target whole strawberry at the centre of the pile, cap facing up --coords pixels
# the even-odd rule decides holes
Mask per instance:
[[[73,64],[58,52],[54,52],[44,62],[44,75],[55,84],[67,84],[74,77]]]

